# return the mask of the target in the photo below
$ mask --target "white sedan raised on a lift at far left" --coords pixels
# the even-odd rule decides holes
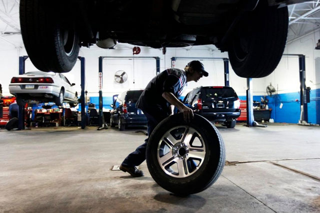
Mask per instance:
[[[61,73],[33,71],[13,77],[9,91],[18,105],[24,105],[26,100],[40,100],[54,101],[57,106],[66,102],[74,107],[78,99],[74,85]]]

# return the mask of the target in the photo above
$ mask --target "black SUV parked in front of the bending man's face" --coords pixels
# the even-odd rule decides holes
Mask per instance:
[[[227,86],[197,87],[189,92],[183,103],[211,122],[219,122],[234,128],[240,116],[240,100],[235,91]]]

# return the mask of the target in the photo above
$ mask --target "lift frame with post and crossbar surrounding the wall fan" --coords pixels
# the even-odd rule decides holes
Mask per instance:
[[[152,56],[100,56],[99,57],[99,128],[102,128],[104,125],[104,118],[103,118],[103,100],[102,100],[102,70],[103,64],[102,61],[104,58],[123,58],[123,59],[144,59],[144,58],[154,58],[155,59],[155,67],[156,67],[156,75],[160,73],[160,58],[159,57],[152,57]],[[98,129],[99,129],[98,128]]]

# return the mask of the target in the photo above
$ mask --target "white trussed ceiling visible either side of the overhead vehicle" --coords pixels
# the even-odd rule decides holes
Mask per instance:
[[[12,36],[20,34],[19,1],[0,0],[0,40],[15,47],[21,45],[19,36]],[[320,28],[320,0],[289,5],[288,10],[288,42]]]

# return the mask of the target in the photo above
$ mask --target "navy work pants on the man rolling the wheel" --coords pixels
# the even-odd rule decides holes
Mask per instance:
[[[143,110],[142,110],[143,111]],[[134,152],[130,153],[122,162],[121,165],[125,167],[134,167],[140,165],[145,160],[146,143],[158,123],[168,116],[168,113],[162,109],[154,110],[153,113],[143,111],[147,119],[147,132],[148,138],[144,140],[144,143],[138,146]]]

